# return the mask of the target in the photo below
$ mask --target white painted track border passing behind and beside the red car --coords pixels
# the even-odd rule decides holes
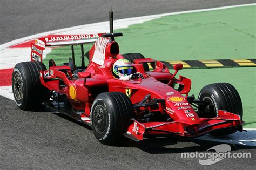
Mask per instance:
[[[133,18],[125,18],[118,19],[114,21],[114,29],[122,29],[127,28],[133,24],[143,23],[145,21],[150,21],[152,19],[161,18],[164,16],[170,15],[179,15],[184,13],[194,13],[194,12],[206,12],[206,11],[214,11],[228,8],[237,8],[241,6],[251,6],[256,5],[256,3],[252,4],[243,4],[243,5],[232,5],[232,6],[224,6],[219,8],[210,8],[210,9],[200,9],[200,10],[191,10],[191,11],[181,11],[181,12],[172,12],[172,13],[163,13],[159,15],[150,15],[143,17],[133,17]],[[16,63],[24,62],[26,60],[30,60],[30,48],[24,49],[8,49],[9,46],[20,44],[26,42],[31,39],[35,39],[38,37],[43,37],[50,34],[80,34],[80,33],[99,33],[99,32],[108,32],[109,31],[109,22],[99,22],[93,24],[85,24],[79,26],[73,26],[70,28],[58,29],[43,33],[38,33],[36,35],[31,35],[28,37],[19,38],[16,40],[12,40],[11,42],[0,45],[0,69],[8,69],[14,67]],[[21,52],[22,51],[22,52]],[[50,51],[46,52],[49,53]],[[20,54],[18,56],[18,53]],[[22,53],[22,55],[21,55]],[[45,54],[44,53],[44,57]],[[3,59],[4,58],[4,59]],[[0,87],[0,95],[14,100],[12,96],[11,86]],[[238,144],[238,145],[248,145],[248,146],[256,146],[256,129],[246,129],[247,132],[236,132],[232,135],[228,135],[226,137],[211,137],[210,135],[204,135],[203,137],[199,137],[201,140],[208,141],[218,141],[218,142],[226,142],[230,144]]]

